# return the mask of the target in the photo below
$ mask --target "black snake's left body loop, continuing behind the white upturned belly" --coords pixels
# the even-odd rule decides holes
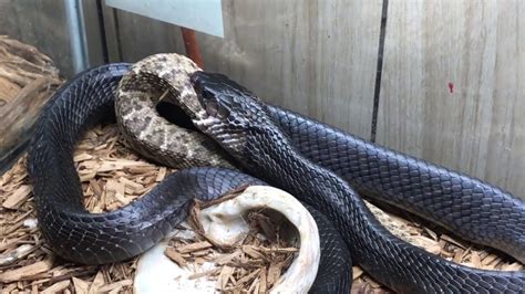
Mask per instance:
[[[104,264],[130,259],[158,243],[184,220],[193,198],[210,200],[239,186],[265,185],[230,169],[185,169],[122,209],[86,211],[73,149],[85,129],[114,118],[116,85],[128,70],[130,64],[110,64],[80,73],[55,93],[37,123],[28,158],[37,216],[52,250],[66,260]],[[323,271],[318,272],[311,291],[348,293],[348,249],[331,222],[306,207],[321,228],[319,266]]]

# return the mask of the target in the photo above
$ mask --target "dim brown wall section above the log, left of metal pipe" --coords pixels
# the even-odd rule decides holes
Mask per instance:
[[[55,61],[64,76],[73,73],[63,1],[2,0],[0,34],[37,46]],[[2,12],[3,13],[3,12]]]

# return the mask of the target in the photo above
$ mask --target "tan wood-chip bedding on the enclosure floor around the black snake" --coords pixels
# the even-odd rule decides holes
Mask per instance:
[[[140,158],[124,146],[116,126],[97,126],[79,144],[74,161],[92,212],[113,210],[146,193],[173,169]],[[103,266],[76,265],[54,256],[35,227],[31,185],[22,157],[0,178],[0,292],[132,293],[136,259]],[[406,216],[394,217],[371,207],[400,238],[447,260],[491,270],[523,270],[492,250],[459,241]],[[408,218],[408,219],[406,219]],[[389,291],[353,267],[352,293]]]

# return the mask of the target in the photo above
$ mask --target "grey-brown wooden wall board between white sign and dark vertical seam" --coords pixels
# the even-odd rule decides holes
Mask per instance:
[[[369,138],[381,4],[224,1],[225,39],[198,35],[205,69],[265,101]]]

